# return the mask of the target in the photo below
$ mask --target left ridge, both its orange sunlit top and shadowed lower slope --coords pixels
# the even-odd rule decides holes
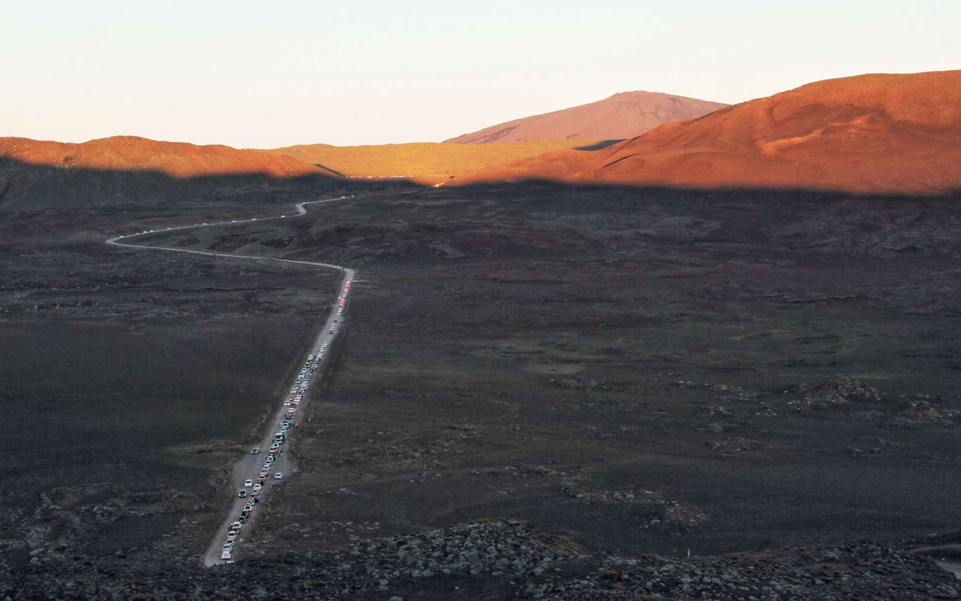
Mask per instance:
[[[147,138],[74,144],[0,138],[0,211],[206,202],[225,195],[343,188],[312,164],[230,146]]]

